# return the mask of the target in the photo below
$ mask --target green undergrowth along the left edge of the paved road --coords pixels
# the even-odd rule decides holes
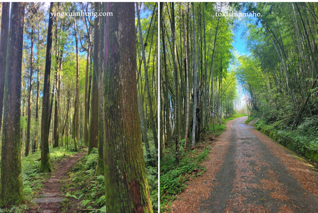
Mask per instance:
[[[213,146],[210,137],[217,137],[226,130],[226,123],[237,117],[247,115],[234,115],[230,118],[222,119],[222,125],[209,124],[208,135],[202,133],[200,141],[195,143],[195,148],[191,150],[192,137],[187,140],[187,151],[184,151],[184,142],[179,142],[179,164],[176,163],[175,148],[165,150],[165,156],[160,160],[159,166],[159,197],[160,197],[160,212],[171,212],[169,207],[177,194],[187,186],[187,182],[192,178],[201,176],[205,169],[202,165],[204,160],[208,159],[208,154]]]

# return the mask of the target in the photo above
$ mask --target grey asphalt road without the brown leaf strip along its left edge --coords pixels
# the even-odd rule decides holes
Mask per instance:
[[[305,190],[306,181],[318,186],[317,173],[287,149],[244,124],[246,118],[229,122],[224,132],[230,134],[226,139],[229,147],[214,177],[218,184],[210,198],[201,199],[199,212],[318,212],[317,196],[309,192],[313,192],[311,187]],[[308,180],[300,178],[301,172]]]

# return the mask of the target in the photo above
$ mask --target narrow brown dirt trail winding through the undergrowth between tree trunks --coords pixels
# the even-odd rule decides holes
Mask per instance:
[[[60,189],[64,186],[63,183],[60,183],[59,180],[66,172],[72,167],[80,157],[86,154],[87,151],[83,153],[75,153],[72,156],[64,157],[59,160],[56,164],[53,164],[54,172],[50,174],[50,178],[46,179],[43,182],[44,188],[39,194],[57,194],[61,193]],[[48,173],[49,174],[49,173]],[[62,197],[61,195],[56,195],[56,197]],[[51,210],[52,212],[61,212],[61,203],[37,203],[35,207],[29,209],[28,212],[42,212],[38,209]]]

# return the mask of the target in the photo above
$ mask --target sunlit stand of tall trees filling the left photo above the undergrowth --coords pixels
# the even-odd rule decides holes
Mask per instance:
[[[156,2],[0,4],[0,207],[24,201],[21,158],[40,151],[39,172],[53,172],[52,149],[88,147],[88,154],[98,148],[107,212],[153,212],[145,167],[156,176],[158,9]],[[87,15],[94,12],[107,15]]]

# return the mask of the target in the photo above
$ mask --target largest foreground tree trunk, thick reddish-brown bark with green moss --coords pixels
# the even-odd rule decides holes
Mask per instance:
[[[106,209],[109,213],[150,213],[153,209],[142,157],[137,111],[134,3],[107,2],[106,4],[106,12],[115,13],[112,18],[107,16],[106,22],[101,23],[105,25],[106,36],[103,55],[106,66],[104,72]]]

